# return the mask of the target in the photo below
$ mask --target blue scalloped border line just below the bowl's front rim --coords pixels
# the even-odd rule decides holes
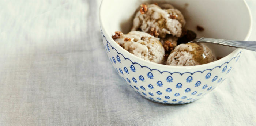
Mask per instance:
[[[107,38],[106,38],[105,35],[103,34],[102,29],[101,29],[101,33],[102,33],[103,37],[106,39],[107,43],[109,43],[109,45],[111,46],[111,48],[114,49],[114,50],[116,50],[114,47],[112,47],[112,45],[110,44],[110,42],[107,40]],[[116,52],[117,52],[117,54],[121,54],[121,53],[119,53],[117,50],[116,50]],[[241,52],[242,52],[242,51],[240,51],[235,57],[231,58],[228,62],[223,63],[221,66],[223,66],[223,65],[226,64],[226,63],[229,64],[229,62],[230,62],[231,60],[233,60],[233,59],[236,59],[236,57],[237,57],[239,54],[241,54]],[[123,54],[121,54],[121,55],[124,57]],[[125,57],[124,57],[124,59],[125,59],[125,60],[130,60],[129,58],[125,58]],[[130,61],[132,62],[132,60],[130,60]],[[142,66],[142,65],[140,65],[140,64],[137,63],[137,62],[132,62],[132,64],[138,64],[141,68],[146,67],[146,68],[150,69],[149,67],[147,67],[147,66]],[[215,67],[212,68],[212,69],[206,69],[206,70],[212,71],[212,70],[215,69],[215,68],[218,68],[218,67],[221,68],[221,66],[215,66]],[[153,70],[157,70],[157,69],[150,69],[150,71],[153,71]],[[203,72],[206,71],[206,70],[203,70],[203,71],[196,71],[196,72],[203,73]],[[160,72],[161,74],[164,73],[164,72],[167,72],[167,73],[170,73],[171,75],[174,74],[174,73],[179,73],[180,75],[183,75],[183,74],[185,74],[185,73],[190,73],[191,75],[193,75],[194,73],[196,73],[196,72],[193,72],[193,73],[191,73],[191,72],[185,72],[185,73],[173,72],[173,73],[171,73],[171,72],[169,72],[169,71],[163,71],[163,72],[161,72],[160,70],[157,70],[157,71]]]

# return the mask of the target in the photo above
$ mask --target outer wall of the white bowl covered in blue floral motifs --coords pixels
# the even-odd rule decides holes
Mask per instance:
[[[111,64],[130,89],[148,100],[163,104],[185,104],[202,98],[227,78],[242,52],[219,66],[203,71],[161,71],[133,62],[118,52],[103,32],[102,36]]]

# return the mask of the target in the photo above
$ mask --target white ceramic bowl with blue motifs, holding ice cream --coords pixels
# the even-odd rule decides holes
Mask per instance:
[[[144,3],[145,1],[140,2]],[[128,87],[154,102],[184,104],[202,98],[227,79],[239,60],[242,49],[208,44],[208,47],[217,56],[223,58],[197,66],[167,66],[138,58],[114,42],[111,34],[118,30],[124,33],[129,31],[132,24],[132,15],[138,5],[141,4],[140,2],[136,0],[102,0],[100,7],[101,31],[106,53],[114,69]],[[187,22],[190,22],[186,26],[188,29],[196,31],[195,26],[199,20],[200,23],[204,24],[206,30],[197,33],[198,37],[248,39],[251,31],[251,16],[244,1],[237,0],[233,3],[223,1],[222,4],[214,4],[214,1],[212,1],[212,4],[208,2],[210,1],[186,1],[188,5],[197,5],[197,9],[188,6],[184,8],[186,10],[182,9],[186,4],[184,1],[172,0],[170,3],[179,8],[185,18],[189,17],[188,15],[194,15],[195,19],[187,19]],[[208,6],[205,7],[206,5]],[[228,8],[227,5],[229,5]],[[112,6],[115,7],[110,8]],[[239,11],[236,9],[237,7],[240,8]],[[207,11],[207,14],[204,14],[206,8],[214,11]],[[218,8],[218,10],[215,8]],[[229,16],[225,13],[226,10],[229,10],[227,12]],[[113,14],[115,14],[115,19],[110,18]],[[211,18],[210,15],[215,15],[215,17]],[[243,19],[237,21],[237,15],[242,15]],[[200,18],[201,16],[204,18]],[[222,20],[223,17],[226,17],[226,19]],[[230,22],[232,19],[233,22]],[[222,20],[222,22],[219,20]],[[239,31],[244,31],[244,33],[234,30],[233,26],[236,26]]]

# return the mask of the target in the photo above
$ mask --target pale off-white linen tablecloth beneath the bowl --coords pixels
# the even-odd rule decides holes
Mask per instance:
[[[256,125],[255,52],[202,99],[154,103],[112,68],[100,1],[0,1],[0,125]],[[255,41],[256,1],[246,1]]]

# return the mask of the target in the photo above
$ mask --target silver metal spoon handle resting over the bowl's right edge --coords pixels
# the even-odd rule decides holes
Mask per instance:
[[[256,41],[235,41],[235,40],[225,40],[225,39],[214,39],[214,38],[196,38],[196,42],[206,42],[214,43],[218,45],[237,47],[242,49],[248,49],[256,51]]]

